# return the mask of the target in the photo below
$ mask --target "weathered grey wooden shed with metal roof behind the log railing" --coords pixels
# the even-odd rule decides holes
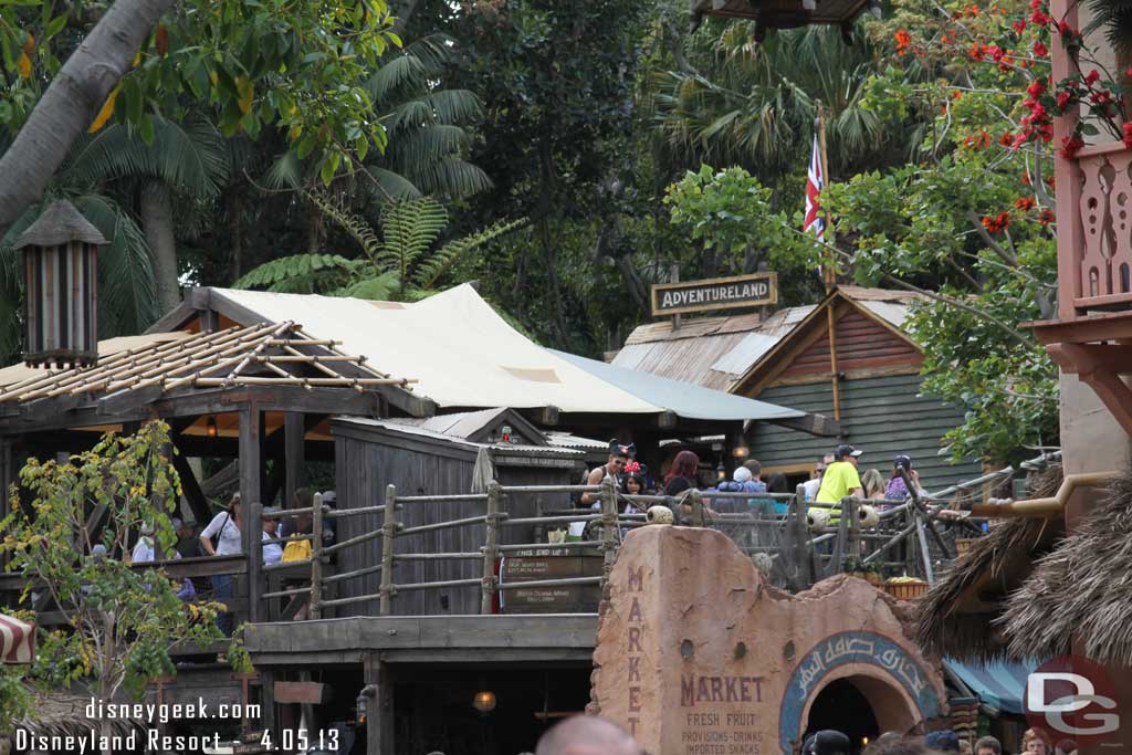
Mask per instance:
[[[409,496],[455,496],[479,488],[488,480],[504,486],[575,484],[585,469],[581,451],[551,446],[542,432],[509,409],[441,414],[423,420],[370,420],[341,418],[332,422],[337,458],[337,505],[357,508],[380,505],[387,484]],[[480,466],[480,469],[477,469]],[[479,484],[477,484],[479,483]],[[569,495],[531,494],[511,501],[514,516],[539,516],[569,508]],[[482,514],[479,501],[448,504],[444,512],[424,506],[406,507],[401,522],[406,527],[434,523],[443,517],[463,518]],[[377,514],[345,520],[338,539],[358,537],[380,526]],[[535,525],[508,527],[500,542],[544,541]],[[477,552],[483,543],[483,525],[422,532],[398,541],[397,547],[420,554]],[[342,554],[338,568],[350,572],[379,564],[381,543]],[[465,580],[480,574],[480,563],[410,561],[397,565],[398,582]],[[374,594],[379,575],[354,580],[342,595]],[[466,615],[480,609],[479,585],[446,591],[421,591],[398,595],[393,602],[400,616]],[[337,609],[337,616],[377,612],[377,600]]]

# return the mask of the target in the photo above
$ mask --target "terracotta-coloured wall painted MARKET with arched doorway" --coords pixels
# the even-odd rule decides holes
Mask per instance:
[[[641,527],[601,606],[591,712],[652,755],[784,755],[822,688],[848,678],[881,730],[907,730],[946,705],[910,618],[861,580],[790,595],[719,532]]]

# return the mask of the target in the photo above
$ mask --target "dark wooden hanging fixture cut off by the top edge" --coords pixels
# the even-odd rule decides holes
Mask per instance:
[[[769,28],[832,24],[851,42],[852,22],[865,10],[878,12],[880,0],[691,0],[692,28],[704,16],[747,18],[755,24],[755,40]]]

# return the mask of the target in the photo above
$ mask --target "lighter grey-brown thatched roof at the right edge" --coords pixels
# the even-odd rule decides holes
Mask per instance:
[[[996,624],[1013,657],[1066,654],[1075,637],[1089,659],[1132,666],[1132,470],[1035,565]]]

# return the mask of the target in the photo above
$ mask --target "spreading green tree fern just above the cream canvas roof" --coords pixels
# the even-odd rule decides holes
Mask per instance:
[[[369,224],[321,194],[308,195],[361,247],[362,257],[291,255],[265,263],[237,281],[238,289],[328,293],[374,300],[412,300],[434,293],[452,266],[472,250],[522,224],[496,223],[437,247],[448,213],[431,197],[393,201],[381,209],[381,237]]]

